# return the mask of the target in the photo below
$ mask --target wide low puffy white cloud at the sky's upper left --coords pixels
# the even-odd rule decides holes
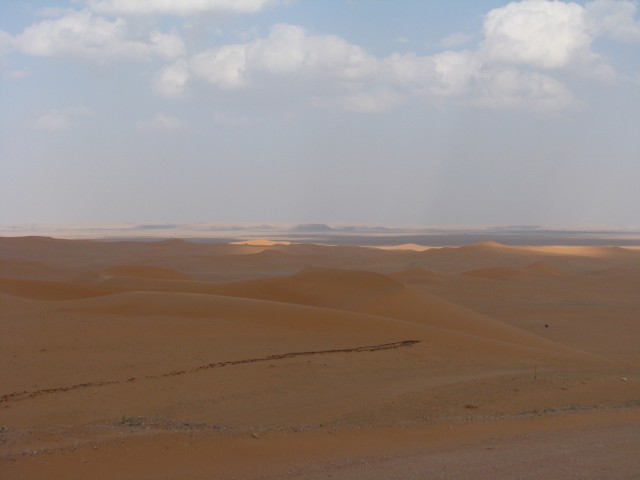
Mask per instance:
[[[27,27],[13,38],[13,47],[44,57],[82,57],[90,60],[174,58],[185,53],[174,33],[151,32],[146,39],[131,38],[123,19],[108,20],[87,11],[74,11]]]

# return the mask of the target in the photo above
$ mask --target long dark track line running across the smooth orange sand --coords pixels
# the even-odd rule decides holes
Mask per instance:
[[[248,363],[258,363],[258,362],[272,362],[276,360],[286,360],[289,358],[295,357],[309,357],[312,355],[332,355],[337,353],[366,353],[366,352],[379,352],[384,350],[394,350],[397,348],[411,347],[416,343],[420,343],[419,340],[403,340],[400,342],[392,342],[392,343],[382,343],[379,345],[366,345],[363,347],[352,347],[352,348],[338,348],[333,350],[312,350],[307,352],[289,352],[289,353],[281,353],[275,355],[268,355],[266,357],[258,357],[258,358],[247,358],[243,360],[229,360],[226,362],[215,362],[209,363],[206,365],[200,365],[199,367],[186,369],[186,370],[174,370],[172,372],[163,373],[160,375],[145,375],[144,377],[131,377],[127,380],[110,380],[103,382],[87,382],[87,383],[78,383],[76,385],[64,386],[64,387],[55,387],[55,388],[45,388],[42,390],[33,390],[33,391],[22,391],[22,392],[14,392],[7,393],[0,397],[0,403],[11,402],[11,401],[20,401],[27,400],[30,398],[40,397],[42,395],[50,395],[54,393],[64,393],[71,392],[73,390],[81,390],[85,388],[96,388],[96,387],[104,387],[106,385],[118,385],[124,383],[133,383],[141,380],[157,380],[165,377],[175,377],[180,375],[186,375],[188,373],[196,373],[202,370],[208,370],[211,368],[223,368],[230,367],[235,365],[244,365]]]

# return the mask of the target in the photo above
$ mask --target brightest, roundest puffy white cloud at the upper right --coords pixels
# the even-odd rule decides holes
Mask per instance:
[[[582,6],[523,0],[491,10],[480,52],[491,62],[563,68],[590,57],[591,36]]]

